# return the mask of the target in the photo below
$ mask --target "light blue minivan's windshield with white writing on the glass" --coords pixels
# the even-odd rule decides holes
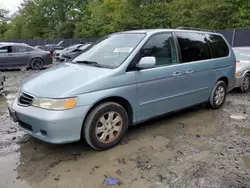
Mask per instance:
[[[119,67],[133,52],[145,34],[113,34],[91,45],[73,62],[91,61],[108,68]]]

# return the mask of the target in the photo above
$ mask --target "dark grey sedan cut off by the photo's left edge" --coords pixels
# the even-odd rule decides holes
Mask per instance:
[[[22,43],[0,44],[0,69],[32,68],[43,69],[52,64],[50,52]]]

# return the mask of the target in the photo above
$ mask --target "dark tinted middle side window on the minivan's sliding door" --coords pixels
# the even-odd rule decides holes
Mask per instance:
[[[176,32],[182,63],[211,59],[208,40],[203,33]]]

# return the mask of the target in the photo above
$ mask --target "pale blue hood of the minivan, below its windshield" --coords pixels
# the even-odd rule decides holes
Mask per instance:
[[[37,97],[70,97],[75,89],[87,86],[109,73],[112,69],[63,63],[28,78],[21,89]],[[86,91],[82,91],[84,93]],[[79,93],[74,93],[77,95]]]

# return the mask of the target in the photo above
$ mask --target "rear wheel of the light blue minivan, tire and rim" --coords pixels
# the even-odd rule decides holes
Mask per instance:
[[[223,106],[227,96],[227,85],[223,81],[218,81],[209,97],[207,106],[211,109],[218,109]],[[216,99],[217,98],[217,99]]]

